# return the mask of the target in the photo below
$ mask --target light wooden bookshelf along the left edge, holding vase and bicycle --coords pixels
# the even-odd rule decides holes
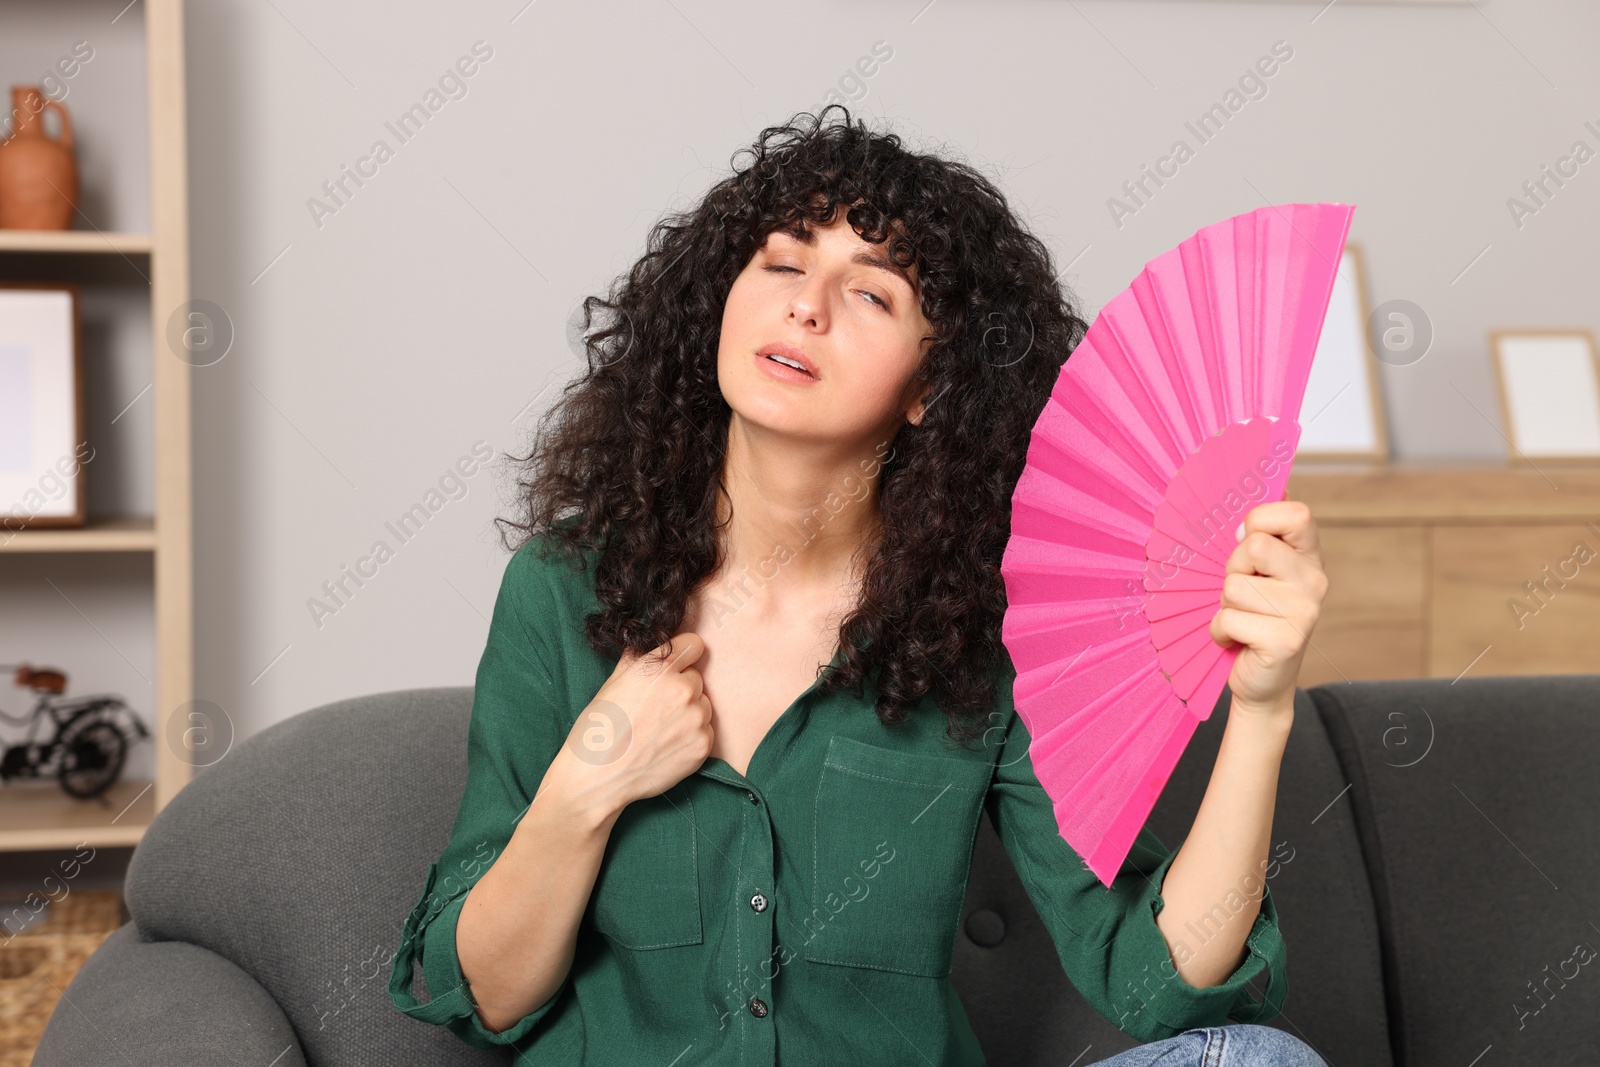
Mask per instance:
[[[61,40],[74,38],[82,6],[35,5],[30,18],[42,10],[61,19]],[[16,11],[0,8],[0,35],[6,34],[6,21]],[[82,528],[0,530],[0,557],[64,553],[61,560],[67,561],[86,560],[91,553],[150,557],[155,696],[154,707],[138,712],[146,717],[155,745],[155,776],[154,781],[123,779],[93,800],[69,797],[56,781],[0,784],[0,851],[70,849],[80,841],[136,845],[192,773],[190,761],[168,742],[166,729],[194,699],[190,368],[166,341],[168,320],[189,301],[184,6],[182,0],[146,0],[123,18],[142,19],[146,82],[128,85],[126,91],[144,98],[147,109],[149,232],[104,230],[104,219],[85,218],[80,202],[70,230],[0,230],[0,277],[10,282],[131,283],[139,290],[149,282],[155,514],[91,518]],[[93,371],[86,368],[85,373]],[[8,710],[16,715],[19,709]],[[13,733],[6,731],[8,741],[14,741]],[[182,731],[174,733],[182,736]]]

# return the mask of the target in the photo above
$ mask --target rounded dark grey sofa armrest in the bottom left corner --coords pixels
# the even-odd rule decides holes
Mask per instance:
[[[256,979],[182,941],[125,923],[94,950],[50,1016],[34,1067],[155,1064],[306,1067],[294,1030]]]

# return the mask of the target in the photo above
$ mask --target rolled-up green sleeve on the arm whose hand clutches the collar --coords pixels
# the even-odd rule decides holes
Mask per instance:
[[[466,789],[450,841],[429,865],[422,897],[405,920],[389,974],[389,997],[400,1011],[445,1025],[474,1048],[522,1041],[571,987],[568,974],[547,1001],[494,1032],[477,1014],[456,953],[456,923],[467,893],[510,841],[568,731],[547,665],[555,646],[531,622],[550,614],[541,603],[549,589],[541,566],[531,542],[506,565],[472,696]],[[413,992],[418,966],[427,1003]]]

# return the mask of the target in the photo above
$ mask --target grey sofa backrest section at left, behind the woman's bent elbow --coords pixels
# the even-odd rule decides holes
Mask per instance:
[[[389,998],[400,928],[450,838],[472,686],[326,704],[246,737],[155,817],[128,912],[256,979],[322,1064],[509,1064]],[[262,1061],[266,1062],[266,1061]]]

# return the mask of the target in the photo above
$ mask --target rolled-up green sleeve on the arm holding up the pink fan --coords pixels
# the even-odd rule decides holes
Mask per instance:
[[[1061,837],[1054,806],[1034,773],[1030,736],[1014,709],[1005,750],[986,798],[990,822],[1005,845],[1034,907],[1050,929],[1067,979],[1123,1033],[1157,1041],[1194,1027],[1262,1022],[1283,1009],[1286,952],[1277,904],[1262,889],[1261,910],[1245,939],[1246,957],[1218,985],[1195,987],[1178,974],[1155,915],[1162,885],[1176,853],[1139,830],[1110,888]],[[1238,909],[1245,904],[1238,897]],[[1250,982],[1269,973],[1264,1000]]]

